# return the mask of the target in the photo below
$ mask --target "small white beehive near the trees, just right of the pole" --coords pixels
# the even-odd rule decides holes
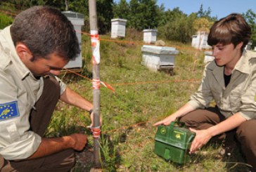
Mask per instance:
[[[125,37],[127,20],[116,18],[111,20],[111,38]]]

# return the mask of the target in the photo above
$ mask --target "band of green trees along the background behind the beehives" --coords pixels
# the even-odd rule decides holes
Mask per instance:
[[[204,10],[203,4],[197,13],[186,15],[179,8],[165,11],[163,5],[158,6],[156,0],[96,0],[99,34],[110,32],[111,19],[127,20],[127,27],[136,30],[158,29],[158,39],[191,42],[192,35],[198,29],[207,28],[217,17],[211,17],[210,7]],[[1,0],[0,8],[23,11],[37,5],[54,6],[60,11],[75,11],[84,14],[83,30],[89,32],[89,4],[88,0]],[[68,5],[68,6],[67,6]],[[243,14],[252,28],[252,46],[256,46],[256,15],[252,10]]]

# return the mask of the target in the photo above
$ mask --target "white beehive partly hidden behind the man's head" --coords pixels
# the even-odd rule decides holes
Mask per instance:
[[[65,16],[67,16],[68,20],[72,23],[75,27],[75,31],[77,34],[77,39],[79,41],[80,49],[82,47],[82,34],[81,34],[81,27],[84,25],[84,15],[81,13],[76,13],[73,11],[63,11],[62,12]],[[75,60],[70,60],[65,68],[81,68],[82,67],[82,53],[80,53]]]

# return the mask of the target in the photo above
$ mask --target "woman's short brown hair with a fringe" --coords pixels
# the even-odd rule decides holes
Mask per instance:
[[[233,44],[235,47],[243,42],[241,51],[248,44],[251,37],[251,29],[242,15],[231,13],[215,22],[210,29],[207,44],[214,46],[216,44]]]

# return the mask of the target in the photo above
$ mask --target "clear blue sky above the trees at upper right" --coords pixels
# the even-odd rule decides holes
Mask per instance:
[[[157,0],[157,4],[164,4],[165,11],[179,7],[179,10],[187,15],[198,12],[203,4],[203,10],[207,11],[210,7],[210,15],[217,16],[218,19],[230,13],[246,13],[248,9],[256,13],[256,0]]]

